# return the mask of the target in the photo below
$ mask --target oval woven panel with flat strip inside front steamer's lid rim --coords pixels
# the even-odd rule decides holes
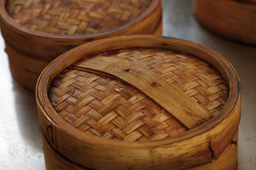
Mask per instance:
[[[227,98],[225,80],[209,64],[156,48],[83,59],[64,69],[49,89],[54,110],[67,123],[84,134],[124,141],[180,135],[220,114]],[[198,115],[186,105],[196,106],[190,109]]]

